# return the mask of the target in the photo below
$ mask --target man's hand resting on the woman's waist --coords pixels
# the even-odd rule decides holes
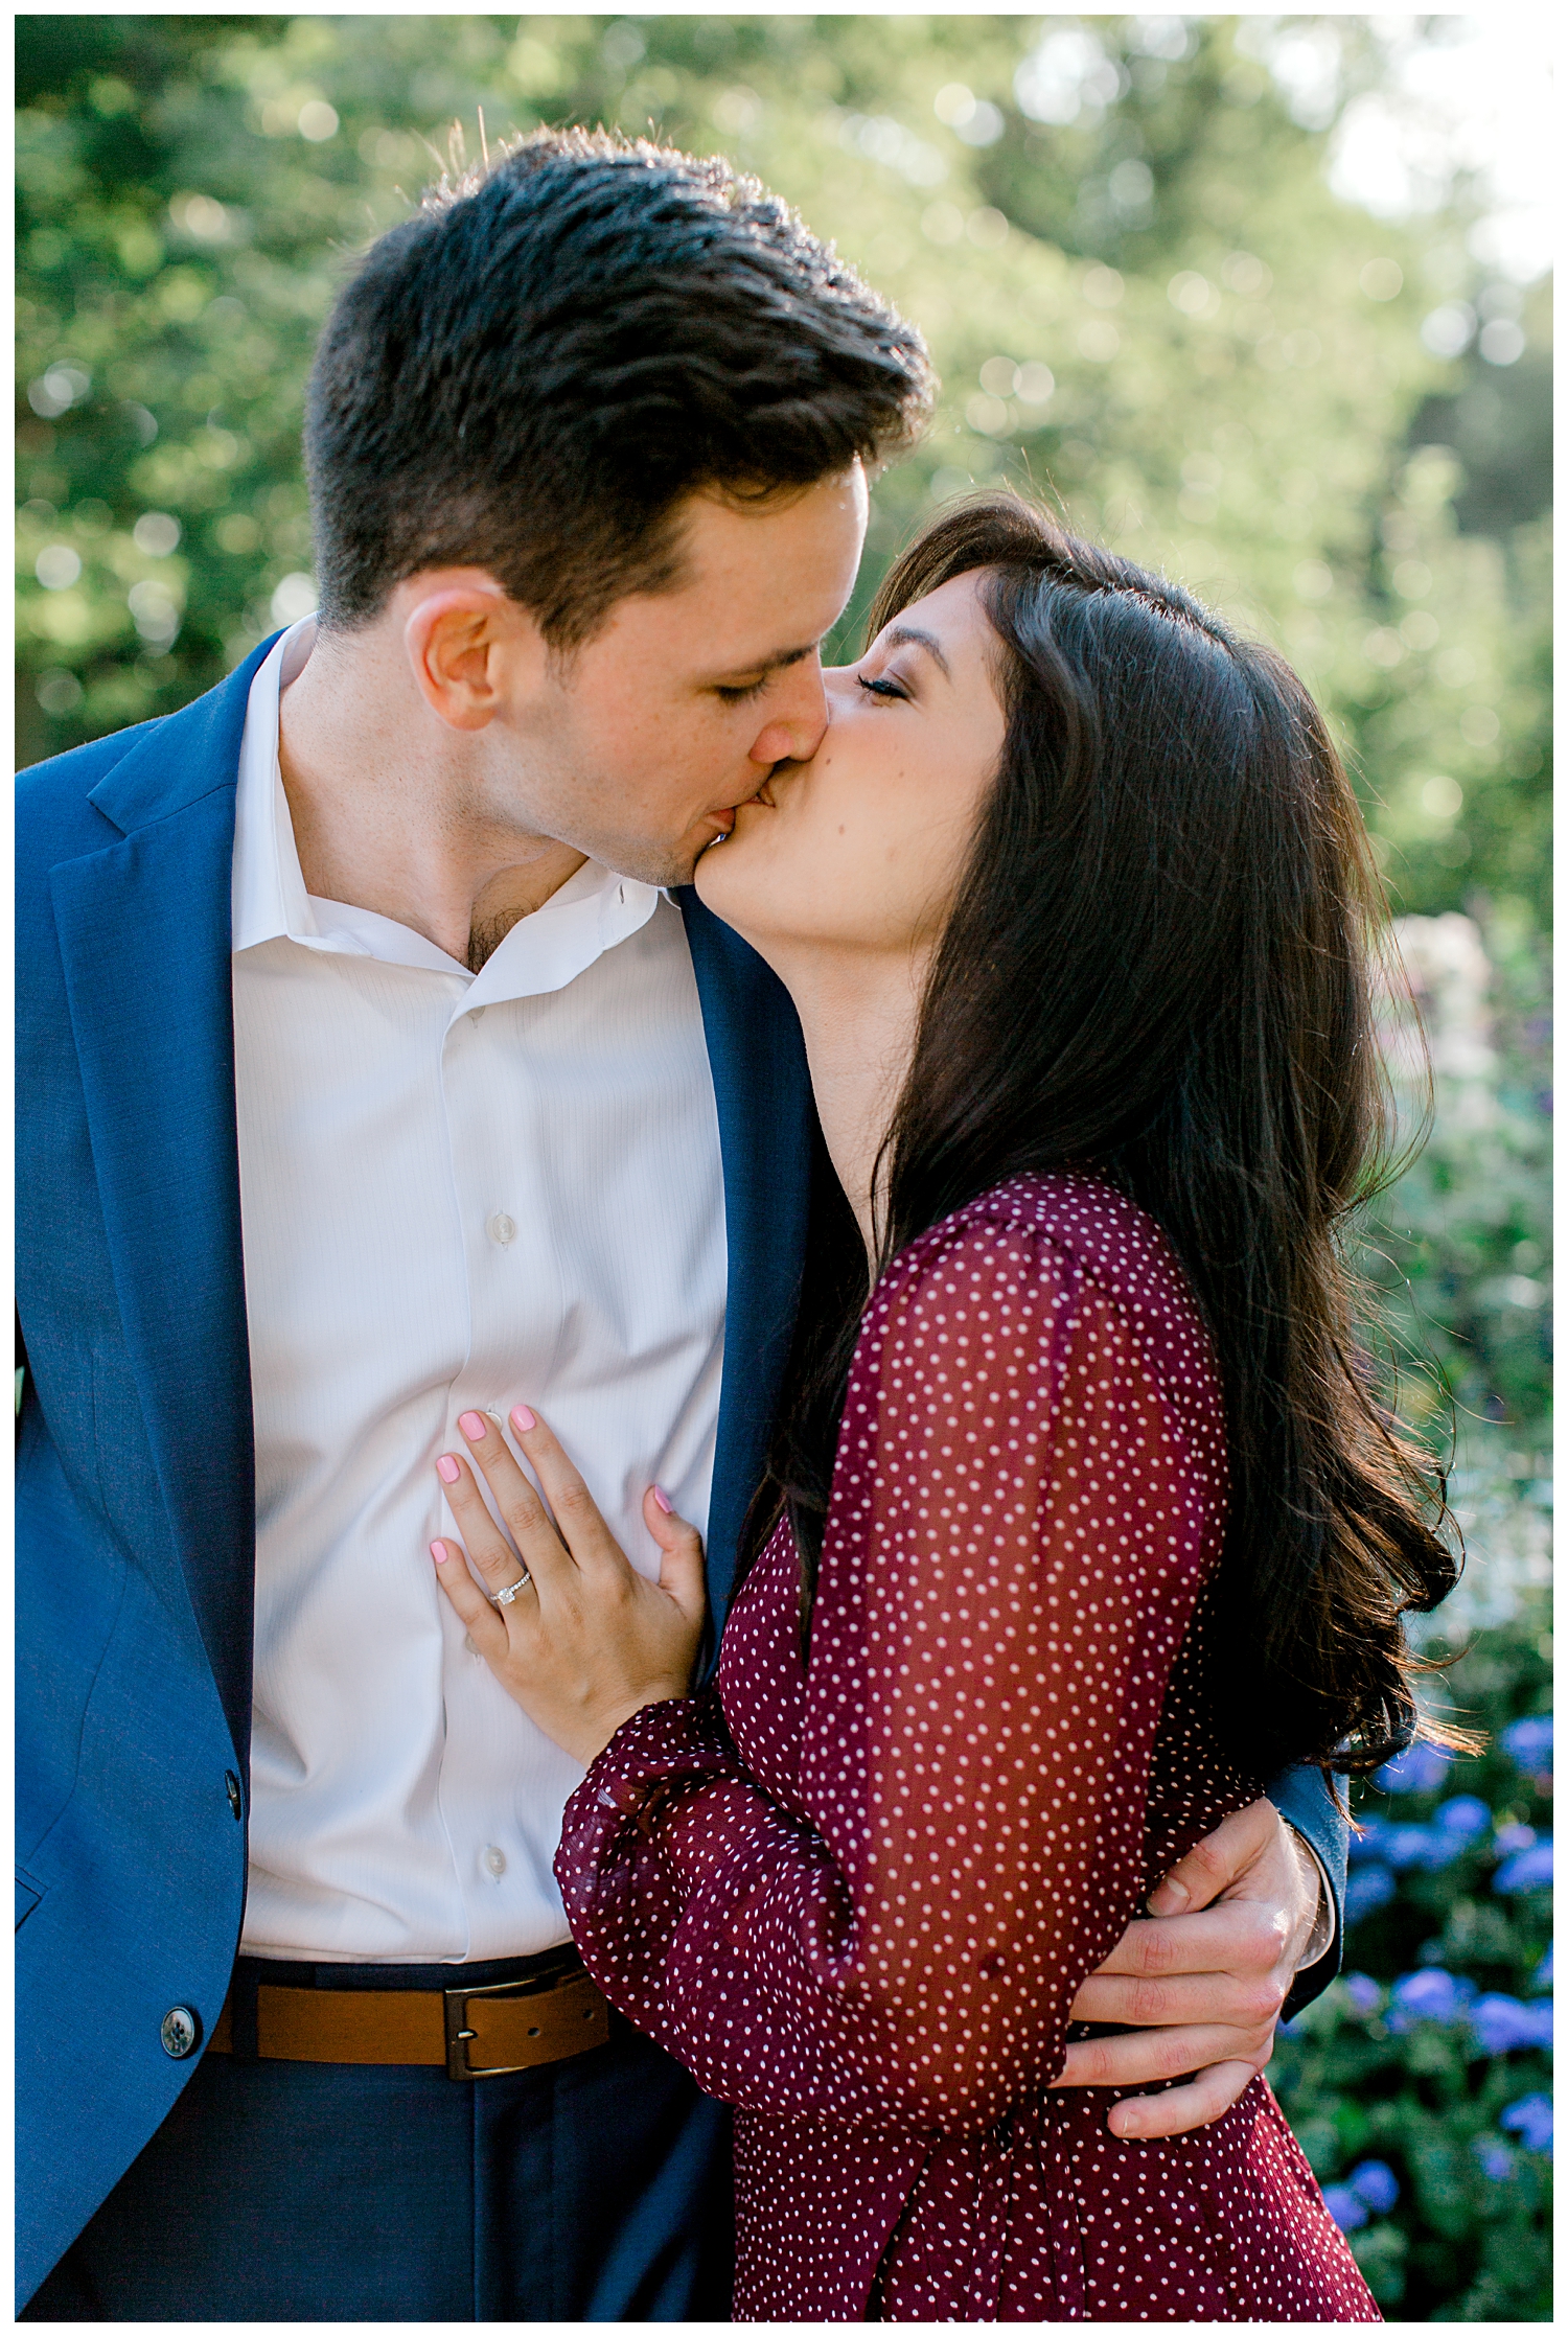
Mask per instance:
[[[1117,2101],[1110,2131],[1147,2141],[1222,2117],[1274,2052],[1274,2024],[1318,1921],[1318,1867],[1274,1802],[1206,1835],[1150,1893],[1152,1923],[1129,1923],[1073,1998],[1075,2022],[1133,2036],[1068,2047],[1056,2085],[1152,2085]]]

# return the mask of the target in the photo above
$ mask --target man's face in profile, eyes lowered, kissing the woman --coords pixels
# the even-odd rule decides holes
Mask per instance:
[[[818,645],[851,596],[865,523],[858,463],[750,509],[694,495],[682,582],[619,601],[507,706],[491,792],[521,774],[514,811],[535,834],[645,883],[687,883],[773,764],[816,755]]]

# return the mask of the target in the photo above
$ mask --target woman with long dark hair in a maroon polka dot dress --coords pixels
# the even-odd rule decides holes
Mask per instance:
[[[1453,1580],[1337,1253],[1355,802],[1271,652],[1021,502],[944,514],[872,629],[696,874],[799,1007],[848,1201],[717,1692],[696,1535],[650,1491],[633,1575],[526,1407],[561,1538],[486,1435],[526,1570],[465,1468],[505,1606],[456,1542],[439,1577],[589,1764],[589,1970],[736,2106],[736,2318],[1374,2321],[1262,2078],[1136,2148],[1052,2089],[1175,1856],[1404,1741],[1400,1610]]]

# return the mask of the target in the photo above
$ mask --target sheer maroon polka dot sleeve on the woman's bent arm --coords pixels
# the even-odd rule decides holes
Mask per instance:
[[[1201,1337],[1103,1260],[972,1208],[862,1330],[811,1655],[778,1743],[715,1699],[640,1713],[556,1872],[622,2010],[713,2094],[974,2131],[1061,2068],[1080,1979],[1138,1909],[1154,1729],[1217,1540]],[[1185,1360],[1182,1360],[1185,1358]],[[720,1694],[778,1664],[776,1535]]]

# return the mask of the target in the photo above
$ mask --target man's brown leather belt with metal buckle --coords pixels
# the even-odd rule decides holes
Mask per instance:
[[[379,2061],[444,2068],[449,2078],[568,2061],[610,2043],[610,2005],[582,1963],[540,1958],[542,1970],[486,1989],[257,1986],[259,2061]],[[234,1993],[208,2052],[234,2052]]]

